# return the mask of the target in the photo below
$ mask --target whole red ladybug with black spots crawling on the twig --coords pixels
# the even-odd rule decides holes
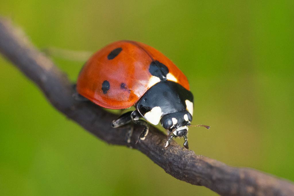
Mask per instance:
[[[144,130],[137,142],[148,134],[148,121],[153,125],[161,123],[169,131],[164,148],[177,137],[184,138],[183,146],[189,148],[187,134],[193,115],[193,95],[187,77],[151,46],[129,40],[105,46],[81,69],[76,90],[103,108],[126,109],[134,105],[136,110],[113,120],[112,127],[131,122],[142,125]],[[132,130],[128,132],[128,143]]]

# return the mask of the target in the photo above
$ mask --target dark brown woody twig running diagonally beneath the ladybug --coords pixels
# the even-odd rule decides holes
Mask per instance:
[[[36,83],[50,103],[68,118],[107,143],[127,145],[126,129],[111,128],[111,121],[117,116],[93,103],[76,101],[72,97],[74,89],[66,75],[38,51],[20,29],[3,18],[0,18],[0,52]],[[141,129],[135,127],[131,147],[147,155],[179,180],[205,186],[220,195],[294,195],[294,185],[286,180],[195,155],[176,142],[164,150],[166,135],[154,127],[150,128],[146,140],[136,145]]]

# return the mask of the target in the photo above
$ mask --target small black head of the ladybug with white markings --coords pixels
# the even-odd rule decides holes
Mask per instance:
[[[173,132],[179,138],[187,136],[188,125],[190,125],[191,121],[192,115],[187,110],[166,114],[160,120],[163,128]]]

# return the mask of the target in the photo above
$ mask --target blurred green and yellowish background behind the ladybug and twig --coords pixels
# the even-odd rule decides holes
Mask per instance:
[[[190,128],[191,150],[294,181],[294,3],[228,2],[0,0],[0,14],[39,48],[157,48],[190,81],[193,124],[212,127]],[[72,81],[84,63],[52,59]],[[0,65],[0,195],[217,195],[95,138]]]

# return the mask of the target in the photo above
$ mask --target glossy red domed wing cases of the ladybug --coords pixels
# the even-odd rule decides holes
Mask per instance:
[[[109,59],[108,55],[118,48],[121,51],[117,56]],[[104,108],[129,108],[154,82],[159,82],[154,81],[149,72],[152,61],[159,61],[168,68],[172,76],[168,80],[190,90],[183,72],[161,52],[144,43],[126,40],[111,43],[93,54],[78,76],[77,91]],[[109,83],[107,91],[102,89],[104,81]]]

